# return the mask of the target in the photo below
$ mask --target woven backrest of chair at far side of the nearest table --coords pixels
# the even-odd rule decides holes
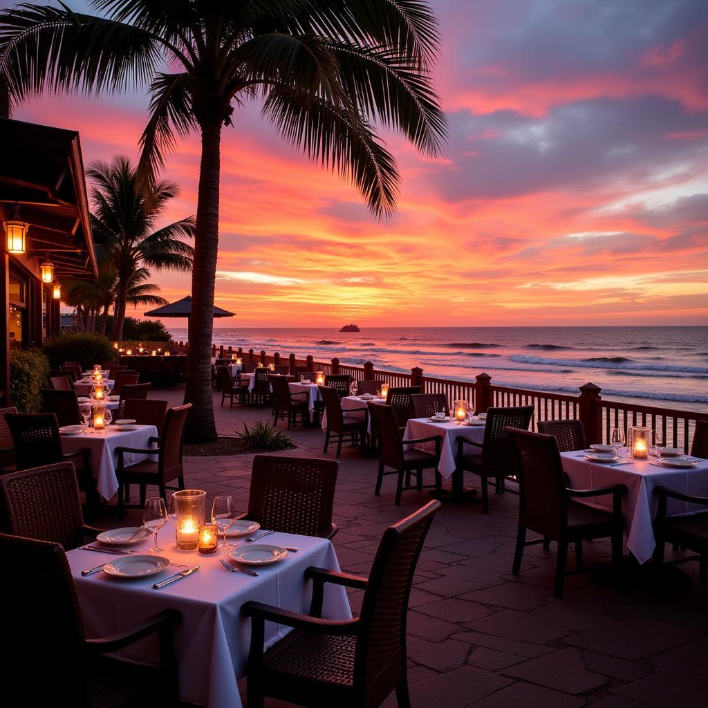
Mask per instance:
[[[249,518],[269,530],[328,535],[338,469],[333,459],[256,455]]]

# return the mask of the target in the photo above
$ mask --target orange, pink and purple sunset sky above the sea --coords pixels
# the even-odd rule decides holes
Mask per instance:
[[[258,104],[236,108],[216,298],[238,313],[229,326],[706,324],[706,0],[432,4],[450,139],[427,159],[387,135],[403,176],[392,219]],[[146,105],[64,97],[14,117],[79,130],[88,164],[137,156]],[[173,218],[195,213],[198,159],[196,138],[169,158]],[[168,299],[190,292],[187,275],[154,280]]]

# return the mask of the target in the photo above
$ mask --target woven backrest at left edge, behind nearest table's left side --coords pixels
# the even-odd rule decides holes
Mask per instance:
[[[11,534],[52,541],[67,550],[83,542],[84,517],[72,462],[4,474],[0,495]]]

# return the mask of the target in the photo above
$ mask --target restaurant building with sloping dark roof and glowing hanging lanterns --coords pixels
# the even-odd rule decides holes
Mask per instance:
[[[9,351],[61,331],[62,282],[96,278],[79,134],[0,118],[0,406]]]

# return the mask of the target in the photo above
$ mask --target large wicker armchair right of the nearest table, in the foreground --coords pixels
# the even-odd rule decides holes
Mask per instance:
[[[245,603],[251,617],[248,706],[262,708],[266,695],[303,706],[376,708],[396,691],[409,708],[406,615],[416,564],[439,501],[387,527],[369,578],[308,568],[312,580],[309,615],[263,603]],[[324,586],[364,590],[356,619],[321,619]],[[263,653],[265,622],[294,630]]]

